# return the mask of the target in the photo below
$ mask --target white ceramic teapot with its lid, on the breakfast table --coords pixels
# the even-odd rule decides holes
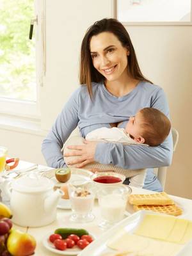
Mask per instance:
[[[54,191],[53,187],[52,180],[35,173],[14,180],[12,191],[7,186],[13,223],[22,227],[42,227],[56,220],[56,207],[63,192]]]

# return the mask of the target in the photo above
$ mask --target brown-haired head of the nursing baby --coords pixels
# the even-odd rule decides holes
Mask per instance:
[[[125,131],[132,139],[149,146],[163,143],[170,133],[171,123],[166,115],[155,108],[143,108],[129,118]]]

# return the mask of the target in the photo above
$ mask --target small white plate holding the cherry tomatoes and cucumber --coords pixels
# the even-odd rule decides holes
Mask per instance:
[[[60,251],[60,250],[56,249],[54,247],[54,244],[49,241],[49,236],[51,234],[52,233],[47,234],[47,236],[45,236],[44,239],[42,240],[42,243],[44,244],[45,248],[47,248],[47,250],[54,252],[54,253],[58,253],[60,255],[77,255],[78,253],[80,253],[82,251],[77,245],[75,245],[73,248],[68,248],[64,251]],[[90,236],[92,236],[92,234],[90,234]],[[94,236],[92,236],[92,237],[94,237]]]

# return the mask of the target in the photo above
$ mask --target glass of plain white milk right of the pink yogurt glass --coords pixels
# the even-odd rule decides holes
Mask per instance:
[[[101,228],[109,228],[124,218],[128,195],[131,188],[125,185],[106,186],[97,192],[99,200],[100,215],[102,221]]]

